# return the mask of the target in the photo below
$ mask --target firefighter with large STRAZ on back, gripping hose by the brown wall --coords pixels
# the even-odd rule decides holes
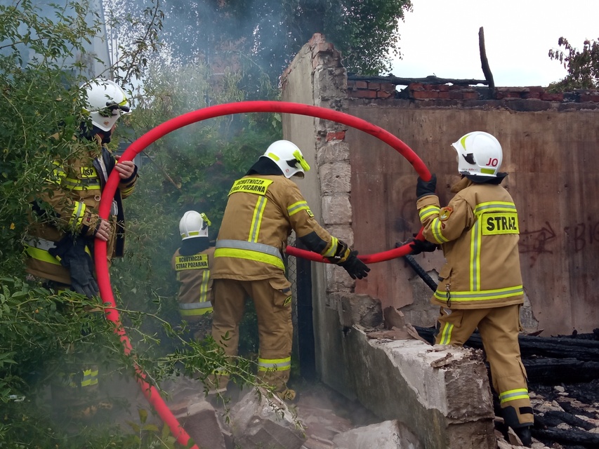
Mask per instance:
[[[518,332],[524,302],[518,254],[518,212],[499,173],[503,152],[493,135],[475,131],[453,144],[462,178],[441,208],[436,177],[416,187],[419,217],[429,243],[414,253],[442,247],[446,263],[431,302],[440,306],[437,344],[461,346],[478,328],[506,424],[531,444],[532,406],[520,359]]]

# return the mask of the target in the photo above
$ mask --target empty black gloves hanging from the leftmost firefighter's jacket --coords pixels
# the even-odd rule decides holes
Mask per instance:
[[[73,239],[72,235],[67,234],[48,253],[56,257],[62,267],[69,269],[73,290],[91,298],[98,295],[99,289],[93,277],[93,260],[85,250],[85,239]]]

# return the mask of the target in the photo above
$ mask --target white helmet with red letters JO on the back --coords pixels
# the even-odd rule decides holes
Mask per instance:
[[[494,135],[473,131],[463,135],[452,147],[458,152],[458,171],[461,175],[497,176],[503,151]]]

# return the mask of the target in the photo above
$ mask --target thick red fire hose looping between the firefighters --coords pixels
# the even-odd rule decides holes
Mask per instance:
[[[414,166],[416,173],[420,175],[423,180],[430,180],[430,173],[421,159],[416,156],[410,147],[408,147],[400,139],[396,138],[395,135],[389,133],[379,126],[375,126],[365,120],[359,119],[343,112],[337,112],[332,109],[325,109],[323,107],[302,105],[301,103],[292,102],[277,102],[277,101],[246,101],[237,103],[226,103],[224,105],[216,105],[211,107],[205,107],[203,109],[197,109],[197,111],[188,112],[187,114],[180,115],[165,121],[161,125],[148,131],[135,142],[131,143],[121,156],[121,161],[131,161],[140,151],[145,149],[148,145],[152,144],[164,135],[171,133],[173,130],[183,128],[190,123],[196,123],[198,121],[213,119],[215,117],[230,115],[230,114],[243,114],[247,112],[280,112],[284,114],[298,114],[305,116],[317,117],[319,119],[336,121],[343,123],[344,125],[351,126],[353,128],[364,131],[374,137],[386,142],[390,147],[393,147],[399,152],[409,163]],[[103,219],[107,219],[114,198],[114,193],[119,185],[119,174],[116,170],[112,170],[112,173],[108,177],[106,185],[104,187],[102,199],[100,200],[99,215]],[[419,233],[421,237],[421,232]],[[117,304],[114,301],[114,295],[112,293],[112,286],[110,285],[110,274],[108,273],[108,264],[106,259],[106,242],[96,239],[94,260],[96,261],[96,273],[98,274],[98,286],[100,287],[100,297],[104,304],[107,306],[106,318],[115,324],[114,332],[120,335],[121,342],[124,346],[124,353],[126,355],[131,354],[131,341],[127,337],[125,330],[119,319],[119,312],[116,307]],[[310,251],[301,250],[299,248],[287,247],[287,253],[298,257],[304,257],[306,259],[315,260],[317,262],[327,262],[322,256],[312,253]],[[360,259],[366,263],[382,262],[383,260],[390,260],[395,257],[401,257],[409,253],[409,247],[407,245],[401,246],[400,248],[394,248],[393,250],[384,251],[382,253],[376,253],[371,255],[360,256]],[[171,433],[177,441],[183,445],[187,445],[190,441],[190,436],[187,434],[185,429],[179,424],[174,417],[171,410],[166,406],[164,400],[160,396],[159,392],[155,387],[146,382],[145,373],[139,366],[136,366],[136,372],[138,374],[138,383],[143,391],[143,394],[154,407],[154,410],[158,413],[159,417],[163,422],[169,426]],[[193,445],[192,449],[199,449],[197,445]]]

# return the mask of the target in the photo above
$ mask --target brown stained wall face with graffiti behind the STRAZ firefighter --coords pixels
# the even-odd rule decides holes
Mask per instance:
[[[437,174],[441,203],[457,179],[449,145],[470,130],[485,130],[503,147],[503,185],[519,211],[520,262],[527,294],[525,327],[541,336],[590,333],[599,323],[598,103],[485,100],[447,104],[436,100],[351,100],[349,113],[382,126],[407,143]],[[522,103],[527,105],[525,111]],[[546,109],[547,107],[551,109]],[[537,109],[537,110],[534,110]],[[419,229],[416,175],[409,163],[370,135],[349,130],[353,229],[356,247],[374,253]],[[425,269],[439,269],[442,255],[418,255]],[[414,274],[402,261],[377,264],[356,292],[410,311],[423,309]],[[418,283],[416,283],[418,285]],[[430,292],[427,292],[430,294]],[[403,309],[402,309],[403,310]],[[430,325],[434,316],[409,314]],[[420,317],[420,318],[419,318]]]

